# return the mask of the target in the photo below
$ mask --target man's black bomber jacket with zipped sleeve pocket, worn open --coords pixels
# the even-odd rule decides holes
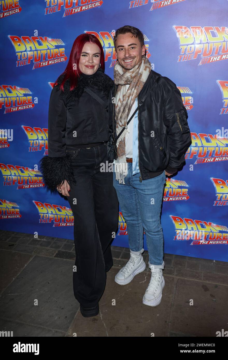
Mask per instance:
[[[138,95],[138,155],[140,181],[156,177],[164,170],[174,174],[185,163],[185,152],[192,143],[188,113],[180,90],[173,81],[151,70],[150,79]],[[109,126],[116,138],[114,85],[109,94]],[[133,120],[131,120],[133,121]],[[116,145],[109,148],[117,158]]]

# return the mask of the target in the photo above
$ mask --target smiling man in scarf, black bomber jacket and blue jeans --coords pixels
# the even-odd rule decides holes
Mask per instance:
[[[114,45],[117,62],[115,87],[109,95],[112,136],[108,149],[130,248],[130,260],[116,274],[115,281],[128,284],[145,269],[144,230],[151,279],[143,303],[157,306],[165,285],[160,222],[164,184],[166,176],[182,167],[191,145],[188,114],[174,82],[151,69],[143,33],[138,28],[119,28]]]

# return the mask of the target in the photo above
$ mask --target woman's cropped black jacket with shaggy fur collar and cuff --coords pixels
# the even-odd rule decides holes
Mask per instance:
[[[82,74],[75,89],[70,91],[70,81],[59,89],[64,75],[50,94],[48,111],[48,156],[40,160],[46,187],[56,192],[64,180],[75,183],[67,145],[80,145],[107,141],[109,137],[108,113],[104,107],[84,91],[94,91],[108,105],[108,94],[113,80],[99,68],[94,75]]]

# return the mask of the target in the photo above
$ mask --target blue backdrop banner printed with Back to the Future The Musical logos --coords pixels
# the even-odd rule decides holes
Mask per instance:
[[[73,239],[69,203],[45,190],[38,165],[50,92],[85,32],[100,39],[113,78],[114,31],[131,25],[152,69],[180,90],[192,134],[186,165],[166,179],[165,253],[228,261],[227,13],[227,0],[0,1],[1,229]],[[127,234],[120,209],[113,245],[128,247]]]

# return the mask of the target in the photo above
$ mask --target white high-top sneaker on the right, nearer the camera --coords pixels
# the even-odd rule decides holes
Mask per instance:
[[[165,280],[162,273],[164,265],[164,261],[162,265],[151,265],[149,263],[149,269],[151,269],[151,279],[143,296],[144,305],[157,306],[160,304],[162,289],[165,286]]]

